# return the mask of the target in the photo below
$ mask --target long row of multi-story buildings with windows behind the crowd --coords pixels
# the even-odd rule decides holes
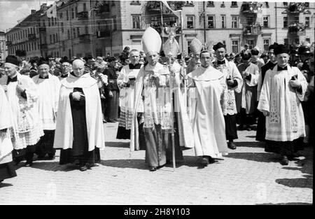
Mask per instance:
[[[176,39],[184,52],[189,52],[193,38],[210,47],[221,41],[228,52],[235,53],[245,43],[250,48],[257,46],[262,52],[274,42],[314,43],[313,2],[168,2],[171,8],[182,9],[181,16],[160,1],[59,0],[57,16],[47,17],[42,10],[37,19],[35,38],[39,46],[36,50],[27,50],[29,38],[21,40],[18,32],[22,29],[15,27],[9,32],[9,53],[22,46],[27,56],[118,56],[125,46],[141,50],[141,37],[149,26],[157,29],[163,42],[170,30],[176,31]]]

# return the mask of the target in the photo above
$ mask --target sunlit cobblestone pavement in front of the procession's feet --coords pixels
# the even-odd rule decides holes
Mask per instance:
[[[89,171],[35,161],[4,181],[0,204],[312,204],[313,148],[286,167],[265,153],[255,131],[239,132],[237,150],[200,168],[194,150],[185,162],[148,171],[144,151],[130,153],[129,141],[115,139],[117,123],[107,123],[102,163]]]

